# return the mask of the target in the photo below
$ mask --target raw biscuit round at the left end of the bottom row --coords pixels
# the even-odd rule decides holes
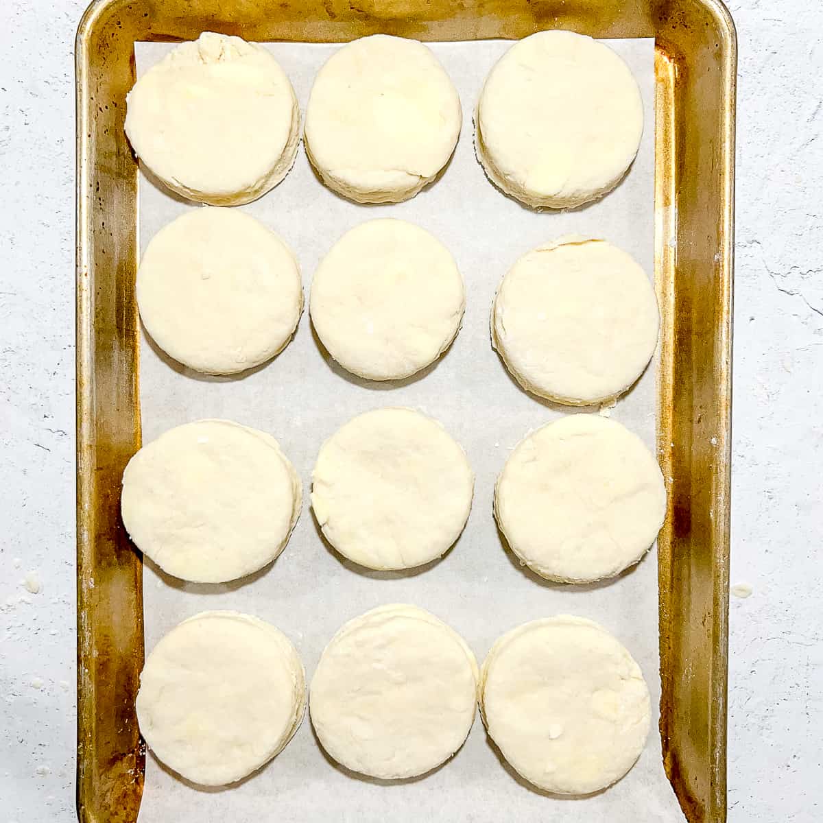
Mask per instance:
[[[135,703],[146,743],[205,786],[243,779],[291,740],[305,672],[290,640],[257,617],[204,611],[152,649]]]

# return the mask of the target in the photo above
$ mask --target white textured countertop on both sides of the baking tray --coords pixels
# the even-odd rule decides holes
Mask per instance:
[[[0,11],[0,823],[75,818],[74,67]],[[823,816],[823,5],[734,0],[732,823]]]

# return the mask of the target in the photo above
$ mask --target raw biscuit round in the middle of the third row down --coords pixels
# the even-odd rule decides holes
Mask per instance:
[[[458,539],[472,508],[466,453],[407,408],[356,416],[320,449],[311,502],[328,542],[369,569],[410,569]]]

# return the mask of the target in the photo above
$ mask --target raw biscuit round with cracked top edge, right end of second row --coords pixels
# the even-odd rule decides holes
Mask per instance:
[[[658,302],[635,260],[605,240],[564,237],[503,278],[491,339],[518,383],[572,405],[625,392],[658,342]]]

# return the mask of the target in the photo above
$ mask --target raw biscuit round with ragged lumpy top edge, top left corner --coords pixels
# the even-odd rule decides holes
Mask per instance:
[[[134,84],[126,134],[143,163],[189,200],[250,202],[286,176],[300,142],[289,78],[266,49],[205,31]]]

